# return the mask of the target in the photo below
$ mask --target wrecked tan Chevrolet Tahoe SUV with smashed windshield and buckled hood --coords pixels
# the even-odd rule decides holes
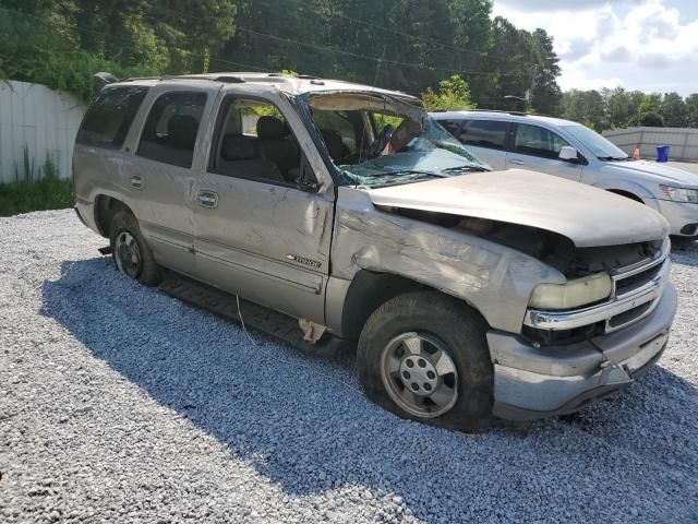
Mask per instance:
[[[321,352],[356,342],[366,395],[406,418],[472,430],[570,413],[666,346],[664,218],[492,171],[402,93],[121,81],[91,105],[73,168],[77,214],[121,272],[157,285],[167,267],[280,311]]]

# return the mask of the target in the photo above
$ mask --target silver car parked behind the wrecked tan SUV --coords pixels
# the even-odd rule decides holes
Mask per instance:
[[[432,117],[495,169],[532,169],[605,189],[660,212],[676,239],[698,238],[696,174],[636,160],[569,120],[505,111],[447,111]]]

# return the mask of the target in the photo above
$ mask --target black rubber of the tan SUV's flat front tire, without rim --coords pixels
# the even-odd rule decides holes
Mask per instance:
[[[466,432],[484,429],[491,422],[494,403],[494,371],[486,331],[488,324],[480,314],[453,297],[437,291],[400,295],[374,311],[361,332],[357,354],[359,380],[373,402],[402,418]],[[384,383],[382,362],[388,348],[394,347],[396,337],[410,332],[440,342],[457,369],[454,373],[457,383],[452,386],[457,391],[455,403],[437,416],[419,416],[404,409]],[[397,379],[401,381],[402,377]],[[409,388],[404,384],[402,391],[406,390]]]

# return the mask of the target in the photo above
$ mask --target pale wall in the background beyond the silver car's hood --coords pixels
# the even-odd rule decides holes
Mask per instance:
[[[669,145],[672,160],[698,160],[698,129],[693,128],[627,128],[609,129],[603,135],[631,155],[640,146],[645,158],[657,157],[658,145]]]

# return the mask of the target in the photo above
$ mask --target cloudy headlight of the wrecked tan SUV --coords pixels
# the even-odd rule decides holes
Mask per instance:
[[[595,273],[566,284],[540,284],[533,289],[529,306],[537,309],[576,308],[609,297],[611,288],[607,273]]]

